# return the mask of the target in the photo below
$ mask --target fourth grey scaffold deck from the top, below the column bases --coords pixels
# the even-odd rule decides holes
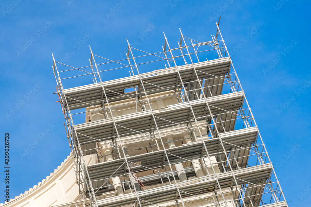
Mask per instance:
[[[263,164],[245,169],[235,170],[234,173],[237,178],[247,178],[245,181],[238,180],[238,185],[242,185],[246,182],[253,183],[258,180],[266,180],[269,177],[271,170],[271,164]],[[249,174],[251,176],[248,176]],[[213,192],[215,189],[216,179],[218,179],[221,187],[230,187],[232,179],[234,179],[231,172],[217,173],[216,176],[217,178],[215,177],[215,175],[207,175],[200,178],[194,178],[188,181],[177,183],[179,189],[181,190],[181,196],[188,197],[192,195],[199,195],[202,192]],[[176,185],[171,184],[162,187],[152,188],[145,191],[139,191],[137,192],[137,195],[139,199],[141,199],[142,206],[148,206],[151,205],[150,203],[157,204],[168,200],[174,200],[176,192]],[[135,202],[135,198],[135,193],[125,194],[124,196],[120,196],[120,199],[116,197],[114,199],[107,198],[103,200],[98,200],[98,205],[105,207],[128,205],[133,204]]]

